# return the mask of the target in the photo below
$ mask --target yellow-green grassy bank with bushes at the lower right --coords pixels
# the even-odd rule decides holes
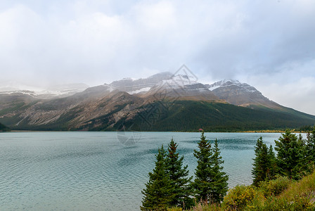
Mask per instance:
[[[181,208],[170,208],[178,211]],[[223,203],[198,203],[190,211],[208,210],[315,210],[315,172],[300,181],[279,177],[255,186],[236,186]]]

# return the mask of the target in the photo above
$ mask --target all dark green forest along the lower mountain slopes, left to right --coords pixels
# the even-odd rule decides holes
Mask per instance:
[[[315,124],[315,116],[290,108],[245,108],[207,101],[153,101],[135,108],[134,115],[127,114],[115,122],[115,115],[130,105],[117,105],[105,115],[82,122],[81,126],[76,126],[78,124],[72,120],[82,112],[82,107],[71,108],[48,124],[29,124],[30,117],[21,119],[18,115],[3,117],[1,122],[18,130],[172,132],[197,132],[198,129],[205,132],[284,131],[287,128],[306,129],[305,125]]]

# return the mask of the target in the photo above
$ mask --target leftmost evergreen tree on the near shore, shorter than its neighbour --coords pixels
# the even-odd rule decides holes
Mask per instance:
[[[163,146],[155,156],[155,168],[153,172],[149,172],[149,181],[146,188],[141,191],[144,195],[141,210],[166,210],[173,198],[172,184],[165,164],[166,151]]]

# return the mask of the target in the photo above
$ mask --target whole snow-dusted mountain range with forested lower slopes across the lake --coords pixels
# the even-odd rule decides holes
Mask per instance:
[[[202,84],[189,74],[162,72],[85,89],[0,89],[0,122],[11,129],[74,131],[244,131],[315,124],[249,84]],[[58,90],[58,91],[56,91]]]

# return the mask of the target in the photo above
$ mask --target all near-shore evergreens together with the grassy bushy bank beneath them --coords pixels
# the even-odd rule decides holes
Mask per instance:
[[[285,130],[275,147],[257,139],[250,186],[228,188],[217,139],[204,132],[194,151],[195,177],[172,139],[158,149],[143,189],[141,210],[315,210],[315,127],[307,138]]]

